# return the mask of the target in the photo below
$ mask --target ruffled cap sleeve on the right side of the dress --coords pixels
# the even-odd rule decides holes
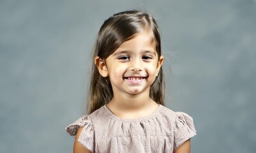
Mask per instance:
[[[174,129],[174,150],[182,145],[186,140],[196,135],[193,119],[188,114],[176,112],[177,117]]]

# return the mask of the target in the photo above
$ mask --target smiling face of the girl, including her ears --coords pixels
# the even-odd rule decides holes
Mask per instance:
[[[109,77],[114,95],[149,92],[163,63],[155,48],[149,33],[138,33],[109,55],[105,64],[97,64],[101,75]]]

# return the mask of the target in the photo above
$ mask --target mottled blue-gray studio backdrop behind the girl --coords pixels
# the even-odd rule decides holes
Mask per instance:
[[[192,152],[255,152],[255,0],[0,1],[0,152],[72,152],[96,33],[130,9],[160,25],[166,104],[193,117]]]

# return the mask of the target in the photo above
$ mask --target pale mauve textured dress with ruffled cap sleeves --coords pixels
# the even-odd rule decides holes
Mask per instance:
[[[193,119],[165,106],[147,117],[121,119],[106,105],[90,115],[80,117],[66,131],[77,135],[79,142],[92,152],[173,152],[196,135]]]

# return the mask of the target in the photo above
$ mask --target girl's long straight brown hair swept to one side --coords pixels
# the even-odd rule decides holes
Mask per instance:
[[[161,54],[161,40],[158,25],[151,15],[141,11],[131,10],[122,11],[114,14],[105,20],[94,45],[94,57],[105,60],[111,55],[124,41],[131,40],[135,34],[149,30],[153,32],[152,41],[156,44],[158,60]],[[163,103],[163,70],[160,68],[158,76],[150,87],[149,96],[161,105]],[[101,106],[109,103],[113,98],[112,86],[109,77],[102,77],[97,66],[93,63],[91,84],[89,89],[89,113],[93,113]]]

